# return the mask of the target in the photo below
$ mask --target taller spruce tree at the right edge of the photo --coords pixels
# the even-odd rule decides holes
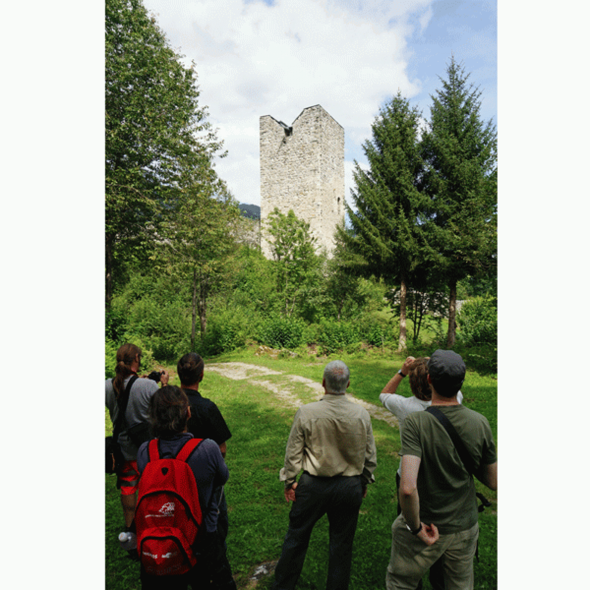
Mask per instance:
[[[468,78],[451,57],[421,142],[429,201],[423,230],[450,290],[447,348],[455,343],[457,281],[489,271],[497,250],[496,127],[481,120],[481,92]]]

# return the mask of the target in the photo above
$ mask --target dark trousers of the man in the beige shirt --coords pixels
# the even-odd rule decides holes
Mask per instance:
[[[327,514],[330,553],[326,590],[347,590],[352,542],[363,493],[360,476],[316,477],[303,473],[289,513],[289,530],[274,572],[273,590],[292,590],[297,584],[309,537],[316,522]]]

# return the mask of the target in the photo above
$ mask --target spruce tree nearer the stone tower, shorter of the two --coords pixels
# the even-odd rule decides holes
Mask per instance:
[[[372,124],[372,139],[363,151],[369,170],[355,161],[356,213],[346,209],[352,233],[340,230],[350,249],[362,256],[365,274],[382,277],[390,286],[401,284],[399,348],[406,345],[406,294],[408,281],[425,257],[425,242],[418,222],[423,197],[418,190],[423,163],[419,154],[421,113],[398,92],[379,110]]]

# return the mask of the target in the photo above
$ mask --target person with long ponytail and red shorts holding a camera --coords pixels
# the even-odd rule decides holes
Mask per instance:
[[[124,463],[117,473],[117,488],[121,490],[121,504],[123,506],[124,532],[133,532],[133,515],[137,503],[137,485],[139,484],[139,471],[137,471],[137,451],[142,438],[149,436],[149,401],[158,391],[158,382],[152,376],[149,379],[139,377],[142,359],[142,351],[135,344],[124,344],[117,350],[117,365],[114,379],[107,379],[105,383],[106,407],[109,409],[110,418],[114,422],[119,417],[119,405],[129,395],[127,408],[123,416],[121,432],[117,442],[123,454]],[[162,385],[168,385],[169,374],[164,370],[159,375]],[[129,384],[129,392],[127,388]],[[137,434],[135,434],[137,432]],[[135,551],[135,553],[134,553]],[[130,555],[136,558],[136,550],[130,551]]]

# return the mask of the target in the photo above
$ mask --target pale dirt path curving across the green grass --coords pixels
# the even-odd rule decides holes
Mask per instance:
[[[324,388],[321,383],[307,379],[307,377],[301,377],[300,375],[284,375],[281,371],[273,371],[272,369],[258,365],[248,365],[247,363],[210,363],[207,364],[207,371],[215,371],[219,375],[223,375],[228,379],[234,379],[235,381],[244,379],[252,385],[264,387],[268,391],[273,392],[281,401],[294,408],[299,408],[304,402],[294,394],[293,388],[290,387],[291,382],[303,383],[313,390],[317,399],[320,399],[324,395]],[[281,379],[278,383],[276,381],[265,381],[263,378],[266,375],[283,375],[284,379]],[[346,397],[350,401],[355,402],[355,404],[362,405],[372,418],[383,420],[383,422],[387,422],[391,426],[399,426],[397,418],[381,405],[369,404],[369,402],[355,398],[349,394],[346,394]]]

